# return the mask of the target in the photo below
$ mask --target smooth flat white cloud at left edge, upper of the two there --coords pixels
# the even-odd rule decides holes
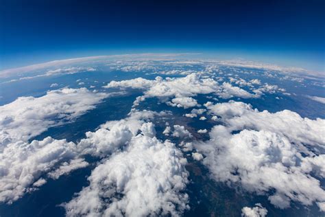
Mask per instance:
[[[95,104],[107,96],[82,88],[48,91],[40,98],[17,98],[0,106],[0,137],[26,141],[51,126],[69,122],[94,109]]]

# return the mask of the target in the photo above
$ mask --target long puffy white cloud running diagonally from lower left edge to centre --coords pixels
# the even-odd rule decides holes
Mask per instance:
[[[0,152],[0,201],[12,203],[23,194],[46,183],[47,178],[58,179],[73,170],[88,166],[85,155],[105,158],[127,146],[139,130],[141,135],[154,137],[151,119],[168,113],[132,111],[129,117],[106,122],[95,132],[87,132],[78,144],[47,137],[42,141],[10,141]]]

